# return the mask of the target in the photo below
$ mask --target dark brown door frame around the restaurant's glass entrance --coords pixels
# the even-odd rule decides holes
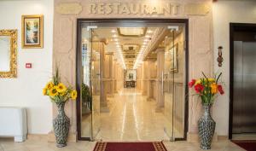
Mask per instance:
[[[185,141],[187,140],[187,132],[189,130],[189,96],[187,95],[189,93],[189,20],[188,19],[78,19],[77,20],[77,54],[76,54],[76,87],[78,90],[78,96],[80,96],[80,84],[79,81],[80,78],[80,69],[81,69],[81,24],[82,23],[183,23],[185,24],[185,46],[186,46],[186,52],[185,52],[185,112],[184,112],[184,134],[183,138],[176,138],[175,141]],[[88,137],[82,137],[81,136],[81,119],[80,119],[80,99],[77,98],[77,129],[78,129],[78,139],[79,140],[86,140],[90,141],[90,138]]]

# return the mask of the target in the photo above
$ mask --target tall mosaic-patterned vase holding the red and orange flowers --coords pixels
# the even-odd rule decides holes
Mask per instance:
[[[215,131],[215,121],[212,119],[210,110],[211,105],[204,105],[204,113],[198,120],[198,129],[202,149],[211,149],[212,137]]]

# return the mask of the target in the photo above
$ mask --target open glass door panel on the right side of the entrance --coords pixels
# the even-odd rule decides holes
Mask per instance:
[[[184,138],[185,114],[185,27],[168,26],[165,38],[165,63],[162,73],[165,100],[165,131],[171,141]]]

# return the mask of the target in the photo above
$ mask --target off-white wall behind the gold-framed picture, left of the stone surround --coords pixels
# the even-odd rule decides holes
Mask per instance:
[[[42,89],[52,73],[53,11],[51,0],[0,1],[0,29],[18,31],[17,78],[0,78],[0,107],[25,107],[29,134],[52,130],[52,102]],[[21,15],[44,15],[43,49],[21,48]],[[32,68],[26,68],[26,63],[32,63]]]

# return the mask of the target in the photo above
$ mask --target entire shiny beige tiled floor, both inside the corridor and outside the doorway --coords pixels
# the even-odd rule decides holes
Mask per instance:
[[[172,123],[164,113],[155,113],[155,102],[148,102],[136,90],[124,90],[109,100],[110,113],[101,113],[101,131],[96,137],[103,141],[160,141],[168,151],[199,151],[198,143],[169,142],[164,132]],[[111,122],[110,122],[111,121]],[[65,148],[56,148],[47,137],[36,137],[26,142],[0,138],[0,151],[92,151],[96,142],[68,142]],[[214,142],[213,151],[242,151],[236,144]]]

